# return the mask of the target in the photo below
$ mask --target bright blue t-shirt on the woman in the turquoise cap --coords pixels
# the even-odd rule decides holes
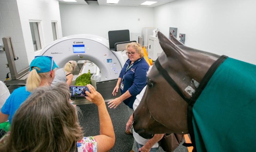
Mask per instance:
[[[19,87],[18,89],[15,89],[6,100],[5,104],[1,109],[1,112],[3,114],[9,114],[10,123],[15,111],[19,108],[21,103],[23,103],[27,99],[29,95],[30,92],[26,91],[26,87]]]

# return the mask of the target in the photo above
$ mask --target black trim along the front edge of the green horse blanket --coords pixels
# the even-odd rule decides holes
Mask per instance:
[[[227,58],[227,56],[222,55],[213,63],[213,65],[211,65],[211,67],[209,68],[209,70],[207,71],[205,76],[203,77],[202,81],[200,82],[200,85],[195,90],[195,93],[193,94],[192,98],[190,99],[189,105],[187,106],[187,125],[188,125],[188,129],[189,129],[191,142],[194,147],[193,151],[197,151],[196,146],[195,146],[195,134],[194,134],[193,123],[192,123],[193,106],[195,104],[195,101],[198,99],[199,95],[202,93],[203,89],[209,82],[212,75],[215,73],[215,71],[217,70],[219,65],[221,65],[221,63],[223,63],[226,60],[226,58]]]

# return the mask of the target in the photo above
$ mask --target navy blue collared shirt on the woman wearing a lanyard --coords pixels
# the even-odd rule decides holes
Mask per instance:
[[[121,90],[121,94],[124,94],[127,90],[131,94],[131,97],[125,99],[123,102],[133,109],[133,103],[136,99],[136,95],[138,95],[141,90],[147,85],[147,71],[149,70],[149,65],[145,61],[144,58],[137,59],[133,66],[127,70],[127,67],[130,66],[130,59],[127,59],[123,69],[119,74],[119,78],[121,78],[121,83],[123,83],[123,90]],[[124,78],[123,75],[125,74]],[[123,80],[122,80],[123,78]]]

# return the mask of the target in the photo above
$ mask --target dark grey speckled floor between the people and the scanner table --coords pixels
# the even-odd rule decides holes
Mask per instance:
[[[106,104],[107,105],[107,104]],[[84,135],[94,136],[99,134],[99,116],[98,108],[94,104],[78,105],[82,111],[80,116],[80,124],[83,127]],[[109,109],[114,131],[115,131],[115,145],[110,152],[129,152],[133,146],[133,136],[125,134],[125,126],[129,118],[127,106],[121,103],[116,109]],[[163,152],[160,147],[159,152]],[[187,148],[180,145],[175,149],[175,152],[186,152]]]

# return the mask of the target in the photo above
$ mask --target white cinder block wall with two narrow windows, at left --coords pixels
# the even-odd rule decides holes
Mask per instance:
[[[11,36],[17,70],[27,67],[35,55],[29,22],[38,21],[41,32],[41,47],[53,42],[51,22],[57,22],[58,38],[62,37],[58,0],[0,0],[0,42],[2,37]],[[5,52],[0,51],[0,80],[4,81],[9,68],[6,68]]]

